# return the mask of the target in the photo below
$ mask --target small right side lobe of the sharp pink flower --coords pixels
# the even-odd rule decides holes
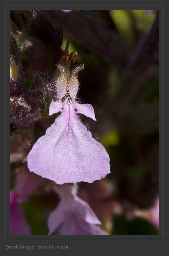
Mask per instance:
[[[89,118],[92,118],[94,121],[96,121],[95,118],[95,111],[90,104],[79,104],[75,103],[74,104],[75,109],[77,109],[77,113],[83,114],[85,116],[88,116]]]

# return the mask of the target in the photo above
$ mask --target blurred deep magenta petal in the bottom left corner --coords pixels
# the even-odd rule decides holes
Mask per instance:
[[[26,221],[18,197],[10,192],[10,235],[30,235],[31,229]]]

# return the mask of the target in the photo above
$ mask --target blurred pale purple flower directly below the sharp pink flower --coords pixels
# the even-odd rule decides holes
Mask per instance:
[[[90,206],[76,195],[76,185],[56,185],[61,201],[48,219],[49,234],[108,235],[99,226],[101,222]]]

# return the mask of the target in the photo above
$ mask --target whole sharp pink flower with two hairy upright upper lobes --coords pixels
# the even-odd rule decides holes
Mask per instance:
[[[49,115],[61,114],[40,137],[28,154],[30,171],[57,184],[100,180],[110,173],[109,155],[101,143],[92,138],[78,113],[96,121],[90,104],[79,104],[77,66],[69,76],[63,65],[56,82],[57,101],[52,100]]]

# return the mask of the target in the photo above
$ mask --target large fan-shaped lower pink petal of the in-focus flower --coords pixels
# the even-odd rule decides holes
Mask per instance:
[[[110,173],[109,161],[73,104],[64,104],[62,113],[28,154],[29,170],[57,184],[100,180]]]

